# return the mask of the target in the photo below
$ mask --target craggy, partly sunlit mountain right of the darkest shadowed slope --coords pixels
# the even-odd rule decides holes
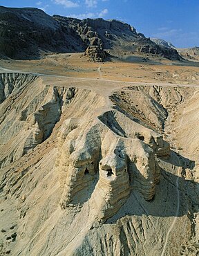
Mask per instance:
[[[176,50],[157,46],[149,38],[137,33],[135,28],[122,21],[115,19],[107,21],[104,19],[84,19],[81,21],[59,15],[53,17],[60,21],[63,26],[73,28],[87,45],[103,46],[112,55],[149,53],[167,57],[169,60],[180,60]]]

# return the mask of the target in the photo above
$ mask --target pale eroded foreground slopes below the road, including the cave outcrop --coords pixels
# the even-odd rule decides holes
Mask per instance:
[[[196,89],[77,81],[1,74],[1,255],[196,255],[196,163],[162,136]]]

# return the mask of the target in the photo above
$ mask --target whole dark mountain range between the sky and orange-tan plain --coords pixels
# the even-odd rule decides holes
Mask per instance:
[[[157,46],[121,21],[50,17],[37,8],[0,6],[0,35],[0,54],[15,59],[49,52],[84,52],[88,46],[97,45],[115,56],[149,53],[180,60],[176,50]]]

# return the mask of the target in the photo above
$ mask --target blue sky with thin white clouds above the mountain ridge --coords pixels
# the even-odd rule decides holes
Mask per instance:
[[[0,0],[1,6],[37,7],[49,15],[120,19],[146,37],[177,47],[199,46],[199,0]]]

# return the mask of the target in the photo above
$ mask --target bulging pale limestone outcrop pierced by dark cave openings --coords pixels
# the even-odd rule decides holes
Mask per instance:
[[[162,136],[119,111],[105,112],[98,119],[90,125],[81,118],[64,122],[57,137],[55,167],[64,189],[61,207],[88,201],[95,219],[106,221],[122,207],[131,190],[153,199],[160,181],[155,154],[163,150],[169,156],[170,151]]]

